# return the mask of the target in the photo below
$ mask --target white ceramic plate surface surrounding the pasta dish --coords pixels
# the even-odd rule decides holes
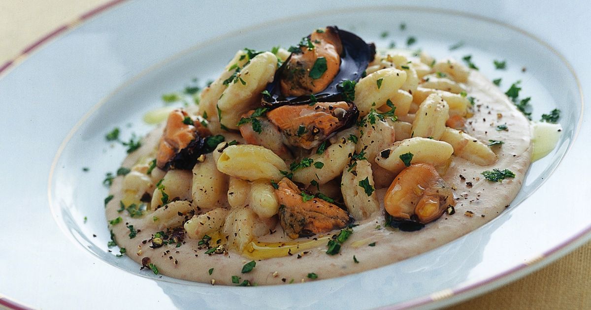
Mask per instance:
[[[591,185],[583,181],[591,171],[585,160],[589,137],[577,138],[591,126],[584,122],[589,116],[583,114],[580,88],[591,85],[582,52],[590,44],[576,40],[589,29],[586,19],[567,33],[524,18],[527,4],[467,3],[460,12],[448,11],[443,2],[439,8],[117,2],[122,3],[0,73],[1,154],[8,175],[1,188],[2,236],[8,242],[0,263],[3,279],[9,279],[0,281],[3,295],[46,309],[81,303],[85,308],[434,307],[523,276],[589,239],[585,195]],[[327,9],[336,6],[343,8]],[[569,8],[529,9],[537,16],[573,18]],[[517,23],[527,31],[509,25]],[[534,119],[554,107],[562,111],[556,150],[532,165],[512,206],[495,220],[430,252],[357,275],[288,286],[211,286],[154,276],[108,252],[102,203],[107,189],[101,182],[125,152],[105,142],[105,133],[115,126],[124,138],[146,133],[150,126],[142,115],[163,105],[161,94],[183,89],[193,77],[217,76],[238,49],[288,46],[311,29],[332,24],[378,47],[392,40],[404,46],[413,36],[413,48],[436,57],[472,54],[480,71],[503,78],[502,89],[522,80],[522,97],[532,97]],[[383,31],[387,38],[381,38]],[[459,41],[462,48],[448,50]],[[564,49],[564,44],[571,45]],[[493,59],[506,60],[507,70],[494,70]]]

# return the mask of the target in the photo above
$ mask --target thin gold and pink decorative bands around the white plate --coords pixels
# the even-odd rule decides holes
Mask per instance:
[[[31,56],[32,54],[35,53],[35,51],[38,51],[43,47],[47,47],[47,45],[49,43],[51,43],[51,41],[53,41],[55,38],[61,37],[63,35],[66,35],[68,32],[75,30],[77,28],[77,26],[79,26],[83,22],[86,22],[87,20],[89,20],[92,17],[96,17],[96,15],[99,15],[99,13],[106,12],[106,11],[108,11],[108,9],[113,8],[118,4],[123,4],[126,2],[130,2],[130,1],[128,1],[128,0],[109,1],[106,4],[100,5],[94,9],[91,9],[90,11],[86,12],[85,14],[80,15],[80,17],[77,19],[74,19],[74,21],[69,22],[67,24],[62,25],[61,27],[56,28],[56,30],[51,31],[49,34],[44,35],[39,40],[35,41],[33,44],[28,45],[26,48],[24,48],[24,50],[21,51],[20,54],[18,54],[18,56],[13,57],[12,59],[9,59],[7,62],[5,62],[4,64],[2,64],[0,66],[0,82],[5,76],[8,76],[9,73],[11,73],[16,68],[18,68],[18,66],[23,61],[27,60],[28,56]],[[570,62],[566,59],[566,57],[563,56],[563,54],[558,52],[558,50],[556,50],[556,48],[554,48],[551,44],[547,43],[546,41],[542,40],[540,37],[537,37],[537,35],[532,34],[531,32],[525,31],[525,30],[523,30],[519,27],[516,27],[514,25],[506,24],[505,22],[498,21],[493,18],[485,17],[485,16],[482,16],[479,14],[474,14],[474,13],[470,13],[470,12],[462,12],[462,11],[457,11],[454,9],[426,8],[423,6],[409,6],[409,5],[402,5],[402,6],[400,6],[400,5],[370,5],[370,6],[365,7],[365,9],[379,9],[379,8],[405,9],[405,10],[424,11],[424,12],[437,12],[437,13],[444,13],[444,14],[460,15],[462,17],[468,17],[468,18],[478,19],[481,21],[492,22],[493,24],[501,25],[503,27],[520,32],[521,34],[524,34],[527,37],[534,39],[535,41],[537,41],[537,43],[543,45],[545,48],[547,48],[549,51],[551,51],[551,53],[553,53],[555,56],[557,56],[564,64],[566,64],[568,70],[573,75],[573,78],[577,83],[577,88],[579,89],[579,95],[580,95],[580,100],[581,100],[581,112],[582,112],[579,116],[579,121],[577,122],[577,125],[575,128],[575,132],[573,135],[573,141],[570,143],[570,145],[568,146],[568,148],[564,152],[564,155],[560,158],[560,161],[558,163],[558,164],[560,164],[560,162],[562,161],[564,156],[566,156],[566,154],[573,147],[574,141],[576,141],[579,136],[580,129],[582,127],[582,122],[583,122],[583,115],[584,115],[584,113],[583,113],[583,111],[584,111],[584,96],[583,96],[582,85],[580,83],[579,77],[576,74],[576,71],[574,71],[574,68],[571,66]],[[339,14],[339,12],[350,12],[353,9],[355,9],[355,8],[352,8],[352,7],[339,8],[339,9],[335,10],[334,14]],[[273,19],[272,21],[261,22],[261,23],[246,27],[245,29],[242,29],[240,31],[249,30],[251,28],[259,28],[259,27],[262,27],[262,25],[268,24],[269,22],[282,22],[282,21],[285,21],[288,19],[297,18],[298,16],[301,16],[301,15],[304,15],[304,14],[289,15],[287,17]],[[309,16],[309,14],[306,14],[306,15]],[[238,32],[238,31],[226,32],[225,34],[223,34],[220,37],[223,38],[223,37],[232,36],[233,34],[235,34],[235,32]],[[213,39],[209,39],[209,40],[204,41],[204,43],[211,43],[212,41],[216,41],[216,40],[217,40],[217,38],[213,38]],[[95,103],[95,105],[90,107],[90,109],[85,113],[85,115],[83,115],[82,118],[77,121],[76,125],[74,125],[72,129],[70,129],[69,133],[66,135],[66,138],[64,138],[64,140],[60,143],[59,149],[56,152],[56,155],[52,161],[50,174],[48,176],[48,198],[49,198],[48,203],[50,205],[53,204],[53,200],[52,200],[50,191],[51,191],[51,179],[53,178],[53,175],[54,175],[53,174],[54,165],[56,165],[57,161],[59,160],[61,152],[63,152],[63,149],[67,145],[67,142],[69,142],[69,140],[71,139],[71,136],[77,130],[79,130],[82,123],[85,122],[85,120],[87,120],[87,118],[89,118],[94,112],[96,112],[96,110],[100,106],[102,106],[102,104],[104,102],[106,102],[109,99],[109,97],[111,97],[113,94],[119,92],[120,89],[122,89],[123,87],[125,87],[129,83],[132,83],[133,81],[141,78],[142,76],[144,76],[144,74],[147,74],[149,71],[155,70],[156,68],[164,66],[165,64],[170,63],[171,61],[173,61],[177,58],[180,58],[185,54],[190,53],[191,51],[199,48],[199,46],[204,43],[191,45],[191,47],[189,47],[189,48],[181,50],[180,52],[178,52],[170,57],[167,57],[164,60],[159,61],[156,64],[152,64],[151,66],[148,66],[144,70],[141,70],[135,76],[133,76],[133,77],[125,80],[123,83],[119,84],[119,86],[116,87],[116,89],[114,89],[112,92],[110,92],[105,97],[100,99],[98,103]],[[557,167],[555,167],[550,172],[548,177],[551,174],[553,174],[553,172],[556,170],[556,168]],[[51,208],[51,209],[52,209],[52,214],[53,214],[53,208]],[[55,216],[55,214],[53,214],[53,215]],[[61,226],[60,226],[60,228],[61,228]],[[69,236],[69,234],[66,234],[66,236],[68,236],[69,239],[72,239],[72,237]],[[517,280],[519,278],[522,278],[522,277],[534,272],[535,270],[541,269],[541,267],[544,267],[544,266],[548,265],[549,263],[554,262],[555,260],[559,259],[560,257],[563,257],[564,255],[566,255],[567,253],[576,249],[578,246],[580,246],[586,240],[589,240],[589,239],[591,239],[591,224],[589,226],[587,226],[586,228],[580,230],[576,234],[571,235],[568,239],[559,243],[557,246],[551,247],[550,249],[546,250],[544,253],[541,253],[541,254],[535,256],[535,259],[530,260],[525,263],[521,263],[517,266],[511,267],[510,269],[505,270],[505,272],[498,273],[495,276],[492,276],[492,277],[489,277],[486,279],[482,279],[482,280],[475,282],[475,283],[471,283],[470,285],[461,286],[456,289],[446,289],[446,290],[443,290],[440,292],[435,292],[435,293],[431,293],[429,295],[424,295],[419,298],[410,299],[405,302],[400,302],[397,305],[390,305],[390,306],[386,306],[386,307],[391,308],[391,309],[407,309],[407,308],[411,308],[411,307],[415,307],[415,306],[431,307],[431,306],[436,306],[437,304],[451,305],[451,304],[455,304],[457,302],[463,301],[468,298],[474,298],[475,296],[482,295],[483,293],[492,291],[492,289],[498,288],[499,286],[505,285],[506,283],[512,282],[512,281]],[[73,240],[73,241],[75,244],[80,245],[80,243],[77,242],[76,240]],[[85,252],[87,252],[87,251],[85,251]],[[12,303],[16,303],[17,307],[21,306],[25,309],[29,308],[28,306],[23,305],[21,302],[14,301],[14,299],[11,299],[11,298],[7,298],[7,296],[0,295],[0,297],[1,297],[0,300],[6,299],[6,300],[11,301]]]

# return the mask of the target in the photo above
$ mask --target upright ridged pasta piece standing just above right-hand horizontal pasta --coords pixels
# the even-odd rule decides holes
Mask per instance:
[[[438,94],[431,94],[418,107],[413,122],[413,136],[439,140],[449,119],[449,106]]]

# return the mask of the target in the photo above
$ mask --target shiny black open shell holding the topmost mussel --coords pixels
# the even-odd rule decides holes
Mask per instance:
[[[316,100],[319,102],[336,102],[342,101],[343,96],[337,89],[337,85],[343,80],[359,81],[363,71],[368,67],[368,64],[374,60],[375,45],[368,44],[362,38],[353,34],[352,32],[339,30],[336,26],[329,26],[330,30],[337,32],[341,43],[343,45],[343,53],[340,58],[339,73],[335,76],[332,83],[322,92],[314,94]],[[303,103],[310,103],[313,100],[311,96],[304,95],[300,97],[285,97],[281,94],[280,77],[283,70],[290,61],[290,57],[285,60],[282,66],[275,73],[274,80],[267,85],[267,94],[262,96],[262,105],[267,107],[278,107],[282,105],[300,105]]]

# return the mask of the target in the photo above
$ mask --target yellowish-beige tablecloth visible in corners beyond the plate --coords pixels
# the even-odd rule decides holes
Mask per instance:
[[[106,2],[0,1],[0,65],[52,30]],[[525,278],[449,309],[589,309],[590,287],[591,242]]]

